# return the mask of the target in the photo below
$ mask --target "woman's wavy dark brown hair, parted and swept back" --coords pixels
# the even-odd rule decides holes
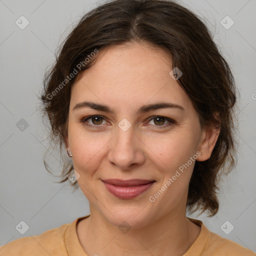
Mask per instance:
[[[67,180],[67,174],[73,169],[66,149],[62,148],[67,136],[72,84],[94,63],[97,56],[91,57],[91,52],[95,49],[100,51],[106,46],[132,41],[145,41],[170,53],[172,68],[178,67],[183,72],[177,82],[189,96],[201,126],[219,127],[221,122],[210,158],[195,161],[187,197],[190,212],[208,210],[212,216],[218,211],[220,174],[227,174],[235,165],[233,106],[236,88],[230,68],[204,22],[173,1],[108,1],[86,13],[59,46],[56,62],[45,72],[44,90],[39,97],[43,117],[47,115],[50,122],[51,141],[60,149],[62,179],[59,183]],[[45,160],[44,165],[48,170]]]

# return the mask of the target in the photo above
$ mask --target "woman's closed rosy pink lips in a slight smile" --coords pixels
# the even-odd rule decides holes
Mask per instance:
[[[106,189],[120,199],[131,199],[146,191],[155,180],[147,179],[104,179]]]

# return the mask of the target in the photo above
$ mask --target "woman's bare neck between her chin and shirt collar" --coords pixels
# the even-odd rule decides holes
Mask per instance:
[[[146,226],[123,232],[93,207],[90,212],[77,228],[79,241],[88,255],[106,256],[114,251],[122,256],[131,253],[181,256],[200,232],[200,227],[188,220],[185,212],[174,211]]]

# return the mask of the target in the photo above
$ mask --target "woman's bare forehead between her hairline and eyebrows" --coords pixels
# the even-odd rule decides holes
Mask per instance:
[[[113,45],[97,53],[94,64],[73,84],[71,102],[139,106],[168,101],[191,106],[188,96],[169,72],[170,55],[147,43]],[[114,108],[114,107],[113,107]]]

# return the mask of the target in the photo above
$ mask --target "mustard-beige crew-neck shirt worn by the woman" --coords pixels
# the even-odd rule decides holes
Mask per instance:
[[[76,234],[76,218],[71,223],[49,229],[39,235],[27,236],[0,246],[0,256],[87,256]],[[197,219],[189,218],[201,231],[183,256],[255,256],[256,253],[238,243],[210,232]]]

